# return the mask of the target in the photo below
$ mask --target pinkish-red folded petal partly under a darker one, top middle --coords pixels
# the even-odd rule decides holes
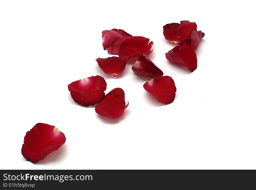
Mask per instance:
[[[121,39],[121,38],[126,39],[131,36],[132,35],[128,34],[127,32],[125,32],[124,30],[121,30],[121,29],[118,30],[118,29],[114,28],[112,30],[103,30],[102,31],[103,48],[105,50],[106,48],[113,46],[115,44],[115,42],[118,41],[119,39]],[[118,52],[116,54],[118,54]]]

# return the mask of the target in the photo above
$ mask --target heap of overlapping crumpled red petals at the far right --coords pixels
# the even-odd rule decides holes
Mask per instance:
[[[187,67],[190,71],[197,68],[197,58],[195,50],[199,42],[205,36],[202,31],[197,31],[195,22],[181,21],[163,26],[164,37],[179,46],[176,46],[168,53],[166,59],[174,64]]]

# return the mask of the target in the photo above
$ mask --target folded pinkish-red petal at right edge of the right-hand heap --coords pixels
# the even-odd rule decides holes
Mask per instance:
[[[179,46],[190,46],[193,50],[197,50],[199,46],[199,42],[202,40],[202,38],[205,36],[205,33],[197,30],[193,30],[191,34],[191,39],[186,39],[182,41]]]

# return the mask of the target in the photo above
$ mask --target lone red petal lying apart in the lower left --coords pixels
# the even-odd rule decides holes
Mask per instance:
[[[36,163],[58,150],[65,141],[65,135],[55,126],[38,123],[26,133],[21,153],[27,161]]]

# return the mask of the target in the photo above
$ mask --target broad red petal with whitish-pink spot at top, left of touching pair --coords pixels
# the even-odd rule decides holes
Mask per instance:
[[[102,76],[97,75],[72,82],[67,87],[77,104],[93,106],[104,99],[107,84]]]

